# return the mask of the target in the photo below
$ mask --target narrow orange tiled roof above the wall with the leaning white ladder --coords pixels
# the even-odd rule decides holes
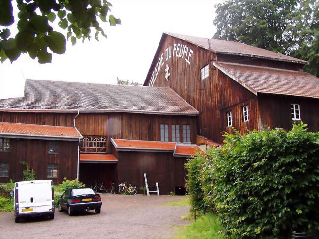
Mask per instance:
[[[144,150],[171,150],[173,151],[176,143],[160,141],[143,141],[127,139],[111,139],[116,149],[144,149]]]

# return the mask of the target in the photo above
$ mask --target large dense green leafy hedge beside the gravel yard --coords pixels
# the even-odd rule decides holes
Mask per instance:
[[[225,134],[222,147],[188,167],[192,207],[217,212],[231,239],[319,230],[319,133],[306,126]]]

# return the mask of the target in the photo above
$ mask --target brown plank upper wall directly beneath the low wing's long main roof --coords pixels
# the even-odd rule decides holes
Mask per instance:
[[[30,124],[72,126],[74,113],[11,113],[0,112],[0,121]],[[160,141],[160,124],[168,124],[169,141],[172,141],[172,124],[190,125],[191,143],[196,143],[196,117],[136,113],[80,113],[76,127],[82,135],[106,136],[106,150],[110,150],[110,138]]]

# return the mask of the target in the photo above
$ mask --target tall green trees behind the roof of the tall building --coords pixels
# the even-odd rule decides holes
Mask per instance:
[[[319,77],[318,0],[227,0],[216,13],[214,38],[307,60]]]

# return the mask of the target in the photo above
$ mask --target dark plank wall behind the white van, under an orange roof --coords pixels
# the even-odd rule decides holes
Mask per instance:
[[[0,183],[23,180],[23,170],[26,166],[19,161],[25,161],[36,171],[36,179],[52,179],[54,184],[62,183],[63,178],[77,177],[78,142],[56,141],[58,153],[48,153],[48,140],[10,139],[10,150],[0,152],[0,163],[9,164],[9,177],[0,177]],[[58,164],[58,177],[48,178],[48,164]]]

